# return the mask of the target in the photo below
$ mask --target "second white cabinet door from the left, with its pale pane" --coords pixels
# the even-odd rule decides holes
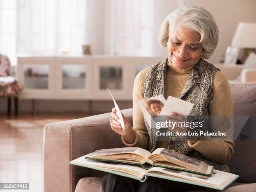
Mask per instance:
[[[56,59],[55,95],[63,99],[89,99],[92,96],[92,59]]]

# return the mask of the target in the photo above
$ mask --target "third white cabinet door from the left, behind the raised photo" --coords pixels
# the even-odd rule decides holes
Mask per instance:
[[[128,96],[128,59],[120,57],[95,58],[93,60],[93,98],[111,100],[108,88],[117,100],[129,100]]]

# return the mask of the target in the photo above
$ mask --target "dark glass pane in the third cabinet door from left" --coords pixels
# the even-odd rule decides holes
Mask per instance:
[[[122,67],[100,67],[100,89],[122,89]]]

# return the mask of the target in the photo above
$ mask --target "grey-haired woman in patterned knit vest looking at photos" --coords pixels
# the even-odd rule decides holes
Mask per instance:
[[[122,136],[126,146],[153,151],[169,148],[205,161],[215,169],[229,171],[226,164],[233,155],[233,141],[153,141],[151,129],[144,123],[137,101],[156,95],[178,97],[195,104],[190,115],[233,115],[233,100],[228,80],[209,59],[218,44],[219,31],[211,13],[201,6],[187,6],[168,15],[160,29],[159,43],[167,46],[168,59],[142,70],[133,88],[133,127],[125,119],[120,128],[115,108],[110,122],[113,131]],[[153,87],[155,86],[155,87]],[[154,90],[154,91],[152,91]],[[178,115],[172,113],[172,115]],[[202,189],[164,179],[147,182],[108,174],[102,187],[107,191],[187,191]]]

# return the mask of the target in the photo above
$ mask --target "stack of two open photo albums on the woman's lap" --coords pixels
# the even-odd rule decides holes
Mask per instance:
[[[69,163],[141,182],[148,177],[158,177],[219,190],[239,177],[166,148],[157,148],[152,154],[137,147],[102,149]]]

